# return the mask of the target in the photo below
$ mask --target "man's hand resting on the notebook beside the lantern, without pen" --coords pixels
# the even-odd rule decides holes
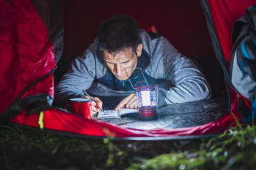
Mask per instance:
[[[115,110],[120,110],[120,108],[137,108],[137,97],[135,93],[131,93],[131,95],[125,97],[118,106],[116,106]]]

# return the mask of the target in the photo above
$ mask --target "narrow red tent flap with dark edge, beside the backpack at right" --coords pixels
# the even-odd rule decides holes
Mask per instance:
[[[208,3],[207,3],[208,2]],[[231,42],[231,30],[233,23],[239,17],[246,15],[246,8],[255,5],[255,0],[247,0],[247,1],[201,1],[202,7],[204,8],[204,12],[206,14],[206,21],[209,27],[209,32],[211,34],[211,39],[213,42],[213,47],[216,53],[217,58],[222,64],[222,69],[224,70],[224,75],[229,84],[228,90],[230,91],[231,99],[235,100],[232,102],[231,110],[237,110],[237,104],[239,107],[246,106],[250,108],[248,104],[248,100],[239,95],[238,99],[237,90],[231,83],[231,78],[229,74],[229,62],[231,60],[231,50],[232,50],[232,42]],[[239,7],[239,8],[237,8]],[[209,12],[211,15],[209,15]],[[211,19],[211,21],[209,21]],[[224,58],[224,59],[223,59]],[[242,101],[242,99],[245,101]],[[244,104],[244,106],[242,106]],[[248,108],[246,108],[246,112],[248,112]],[[249,113],[242,113],[248,115]],[[243,115],[242,115],[243,116]]]

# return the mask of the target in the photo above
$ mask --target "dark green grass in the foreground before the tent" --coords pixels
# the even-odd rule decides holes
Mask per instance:
[[[0,169],[254,169],[256,126],[192,141],[111,141],[0,125]]]

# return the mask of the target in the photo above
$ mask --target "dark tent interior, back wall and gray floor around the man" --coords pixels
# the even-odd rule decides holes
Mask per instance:
[[[215,57],[199,1],[63,1],[63,9],[64,50],[58,62],[58,69],[54,73],[55,84],[67,71],[70,62],[81,55],[97,37],[103,21],[117,14],[125,14],[136,19],[140,29],[156,27],[158,34],[162,34],[180,53],[197,64],[213,90],[213,99],[209,101],[161,108],[164,122],[160,119],[145,123],[134,121],[132,118],[104,121],[138,129],[178,128],[209,123],[227,112],[228,97],[223,71]],[[111,100],[111,97],[99,98],[103,100],[105,108],[111,108],[124,97],[115,97]]]

